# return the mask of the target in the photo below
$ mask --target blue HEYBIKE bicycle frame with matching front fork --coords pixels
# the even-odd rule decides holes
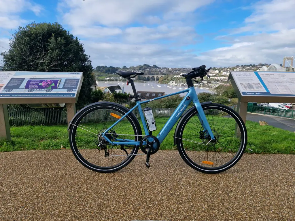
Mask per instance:
[[[140,118],[141,118],[141,121],[142,121],[142,125],[143,125],[144,131],[145,131],[145,135],[149,135],[149,130],[148,130],[148,127],[147,127],[146,122],[145,122],[145,117],[144,117],[143,112],[142,112],[141,104],[145,104],[145,103],[148,103],[148,102],[151,102],[151,101],[154,101],[154,100],[158,100],[158,99],[161,99],[161,98],[166,98],[166,97],[169,97],[169,96],[172,96],[172,95],[181,94],[181,93],[185,93],[185,92],[187,92],[186,96],[183,98],[181,103],[177,106],[176,110],[173,112],[173,114],[170,116],[168,121],[165,123],[165,125],[163,126],[163,128],[161,129],[159,134],[157,135],[157,138],[160,141],[160,144],[166,138],[168,133],[171,131],[173,126],[176,124],[178,119],[181,117],[182,113],[184,113],[184,111],[186,110],[186,108],[188,107],[188,105],[191,102],[194,103],[196,109],[198,110],[197,116],[198,116],[198,118],[200,120],[201,125],[204,128],[203,132],[205,134],[207,134],[207,135],[210,135],[212,140],[214,140],[213,132],[212,132],[210,126],[209,126],[209,123],[208,123],[207,118],[205,116],[205,113],[204,113],[204,111],[202,109],[202,106],[201,106],[201,104],[199,102],[199,98],[198,98],[198,96],[196,94],[196,90],[194,89],[194,87],[190,87],[188,89],[181,90],[181,91],[176,92],[176,93],[164,95],[164,96],[153,98],[153,99],[150,99],[150,100],[145,100],[145,101],[142,101],[142,102],[137,101],[136,105],[133,108],[131,108],[123,117],[121,117],[118,121],[116,121],[106,131],[104,131],[104,133],[102,133],[102,135],[104,136],[106,141],[108,141],[110,144],[113,144],[113,145],[138,145],[139,146],[140,141],[116,138],[115,142],[114,142],[114,141],[110,141],[109,138],[105,134],[108,133],[108,131],[111,130],[112,127],[116,126],[117,123],[122,121],[133,110],[138,108]]]

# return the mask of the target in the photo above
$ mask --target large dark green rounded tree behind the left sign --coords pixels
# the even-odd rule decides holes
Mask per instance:
[[[83,44],[62,25],[28,24],[12,34],[10,49],[2,52],[5,71],[83,72],[83,83],[77,107],[91,102],[91,60]]]

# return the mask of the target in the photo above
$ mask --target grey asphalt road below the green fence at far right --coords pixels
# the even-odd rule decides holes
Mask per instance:
[[[287,131],[295,131],[295,119],[288,119],[288,118],[281,118],[275,117],[271,115],[260,115],[260,114],[253,114],[247,113],[247,120],[249,121],[266,121],[269,125],[281,128]]]

